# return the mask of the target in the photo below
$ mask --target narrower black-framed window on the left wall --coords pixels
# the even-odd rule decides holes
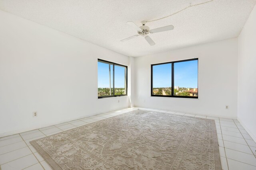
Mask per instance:
[[[127,66],[98,59],[98,98],[127,96]]]

